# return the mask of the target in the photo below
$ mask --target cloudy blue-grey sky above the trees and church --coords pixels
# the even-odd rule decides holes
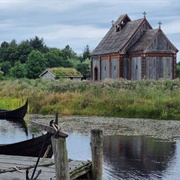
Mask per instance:
[[[146,18],[180,50],[179,0],[0,0],[0,44],[43,38],[48,47],[69,45],[78,55],[90,52],[111,28],[111,21],[128,14]],[[180,55],[178,55],[178,61]]]

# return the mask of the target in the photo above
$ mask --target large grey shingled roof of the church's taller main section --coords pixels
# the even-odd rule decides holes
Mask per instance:
[[[123,50],[144,21],[146,21],[145,18],[131,21],[127,14],[120,16],[91,55],[117,53]],[[125,25],[121,27],[122,22],[125,22]],[[117,29],[118,27],[120,29]],[[149,28],[152,27],[149,25]]]

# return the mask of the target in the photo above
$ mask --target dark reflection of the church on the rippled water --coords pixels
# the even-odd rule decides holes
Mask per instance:
[[[160,178],[174,163],[175,152],[175,142],[139,136],[106,136],[103,151],[106,179]]]

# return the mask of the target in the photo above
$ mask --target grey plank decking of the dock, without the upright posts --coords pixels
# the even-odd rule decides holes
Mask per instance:
[[[0,155],[0,179],[2,180],[25,180],[26,170],[31,177],[37,158],[25,156]],[[41,162],[42,161],[42,162]],[[54,159],[40,159],[35,175],[41,170],[38,180],[55,180]],[[90,172],[92,163],[90,161],[69,160],[70,179],[76,179]]]

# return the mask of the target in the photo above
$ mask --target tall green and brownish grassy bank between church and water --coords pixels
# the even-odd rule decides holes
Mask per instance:
[[[0,108],[29,113],[180,120],[180,80],[91,83],[51,80],[0,81]]]

